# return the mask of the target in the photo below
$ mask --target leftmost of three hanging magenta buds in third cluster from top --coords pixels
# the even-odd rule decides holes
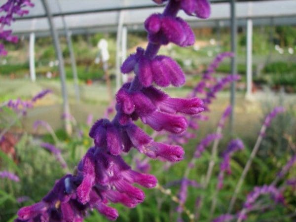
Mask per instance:
[[[142,57],[139,60],[139,70],[138,70],[138,76],[141,84],[145,87],[148,87],[152,83],[152,71],[150,66],[150,61]]]

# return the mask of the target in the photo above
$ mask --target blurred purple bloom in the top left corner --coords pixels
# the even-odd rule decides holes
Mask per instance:
[[[7,0],[6,3],[0,6],[0,12],[3,14],[0,16],[0,39],[16,43],[18,37],[12,36],[12,30],[3,30],[4,26],[10,26],[14,21],[15,14],[23,16],[28,14],[28,10],[24,10],[25,6],[33,7],[34,4],[31,0]],[[0,56],[7,55],[7,51],[4,49],[4,45],[0,43]]]

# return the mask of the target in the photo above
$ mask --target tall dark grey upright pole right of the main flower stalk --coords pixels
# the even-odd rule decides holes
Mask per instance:
[[[231,52],[234,53],[234,56],[231,58],[231,74],[236,74],[236,14],[235,14],[235,0],[230,0],[230,13],[231,13]],[[230,104],[233,111],[230,114],[230,133],[233,133],[233,124],[234,124],[234,108],[235,108],[235,81],[231,82],[231,94],[230,94]]]

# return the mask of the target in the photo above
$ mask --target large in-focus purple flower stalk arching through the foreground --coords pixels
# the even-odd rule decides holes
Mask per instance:
[[[57,181],[40,202],[20,209],[17,222],[82,221],[88,209],[97,209],[115,220],[118,212],[108,206],[109,202],[135,207],[144,201],[145,194],[133,184],[147,188],[157,184],[153,175],[132,170],[120,156],[122,152],[134,147],[150,158],[172,162],[183,159],[182,147],[155,142],[134,123],[141,119],[153,130],[179,134],[188,126],[183,114],[196,115],[204,110],[198,98],[171,98],[151,85],[181,86],[185,82],[184,73],[173,59],[157,55],[160,46],[169,42],[182,47],[194,43],[189,25],[176,17],[180,9],[201,18],[210,14],[207,0],[169,0],[163,13],[148,17],[147,49],[138,48],[121,67],[124,74],[134,71],[135,78],[117,92],[114,118],[95,122],[89,132],[94,147],[79,162],[76,172]]]

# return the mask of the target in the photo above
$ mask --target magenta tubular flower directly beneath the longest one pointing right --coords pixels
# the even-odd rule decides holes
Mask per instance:
[[[155,111],[141,119],[145,124],[148,124],[156,131],[167,130],[171,133],[182,133],[187,128],[187,120],[181,115]]]

